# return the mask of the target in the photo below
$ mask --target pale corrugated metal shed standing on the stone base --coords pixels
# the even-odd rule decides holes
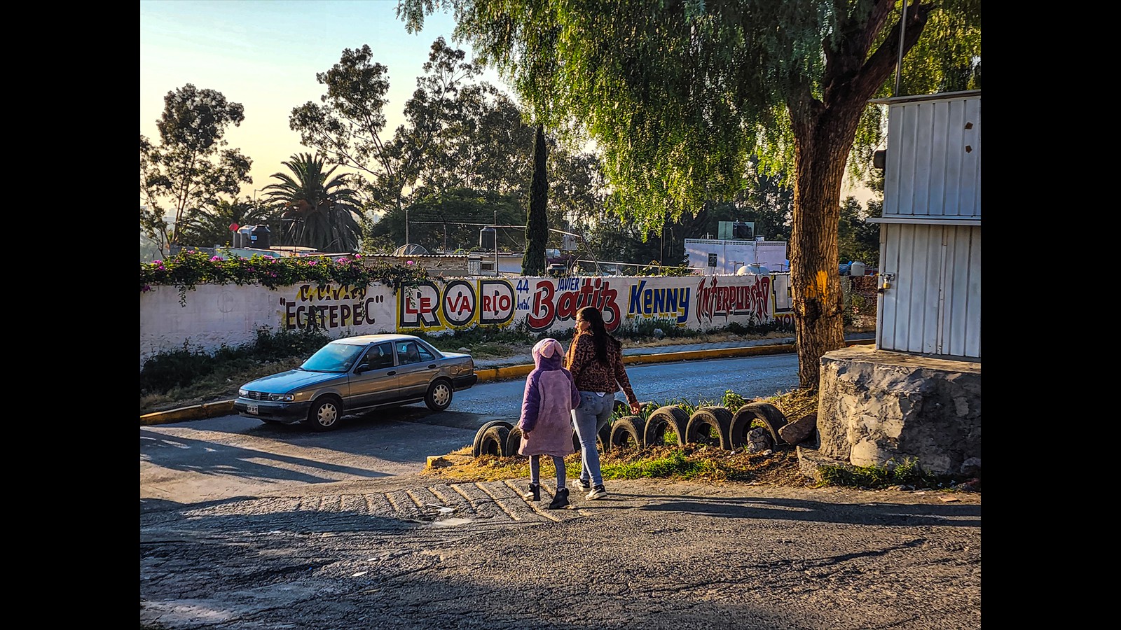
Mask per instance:
[[[876,345],[981,359],[981,91],[888,105]]]

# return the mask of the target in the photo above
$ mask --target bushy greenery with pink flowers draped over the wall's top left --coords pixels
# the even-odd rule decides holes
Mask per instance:
[[[324,287],[336,284],[365,287],[381,282],[397,293],[402,287],[417,287],[428,280],[428,274],[416,266],[367,263],[361,254],[332,260],[330,257],[286,257],[253,254],[251,258],[223,259],[205,252],[185,249],[165,260],[140,263],[140,293],[154,285],[172,285],[179,289],[179,304],[186,304],[187,290],[196,285],[261,285],[270,289],[302,282]]]

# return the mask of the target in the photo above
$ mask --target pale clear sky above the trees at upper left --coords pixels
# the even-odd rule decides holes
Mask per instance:
[[[230,127],[226,148],[252,159],[253,195],[288,173],[284,161],[312,150],[288,129],[293,108],[319,103],[325,86],[315,80],[339,63],[343,48],[369,44],[373,62],[389,68],[385,138],[404,122],[401,110],[416,90],[421,65],[439,36],[452,41],[455,20],[437,12],[419,34],[405,31],[397,0],[140,0],[140,135],[159,142],[156,121],[164,96],[192,83],[217,90],[245,108],[245,120]],[[493,71],[482,78],[504,90]],[[258,193],[260,195],[260,193]]]

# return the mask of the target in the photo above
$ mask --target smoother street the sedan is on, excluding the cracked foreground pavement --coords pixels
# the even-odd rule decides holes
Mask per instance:
[[[726,389],[770,396],[797,386],[797,355],[775,354],[633,365],[627,372],[641,400],[660,404],[720,400]],[[471,445],[483,423],[517,421],[524,389],[521,379],[484,382],[456,392],[442,414],[409,405],[351,416],[328,433],[237,415],[141,426],[141,509],[417,473],[429,455]]]

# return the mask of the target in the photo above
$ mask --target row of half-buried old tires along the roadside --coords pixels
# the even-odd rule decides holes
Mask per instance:
[[[707,444],[731,451],[748,446],[752,429],[762,426],[775,446],[785,444],[778,429],[786,421],[786,416],[769,402],[749,402],[735,413],[726,407],[701,407],[692,416],[669,405],[655,409],[645,420],[641,416],[617,419],[600,430],[596,442],[601,451],[685,444]],[[580,452],[576,432],[572,434],[572,442]],[[517,455],[520,444],[521,429],[506,420],[491,420],[475,433],[472,455]]]

